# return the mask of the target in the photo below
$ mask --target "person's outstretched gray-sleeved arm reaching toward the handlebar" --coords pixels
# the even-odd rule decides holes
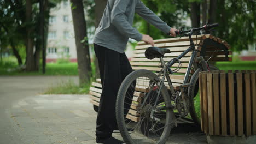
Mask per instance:
[[[171,27],[168,26],[164,21],[162,21],[153,11],[146,7],[140,0],[136,4],[135,12],[141,16],[144,20],[160,29],[164,33],[169,33]]]

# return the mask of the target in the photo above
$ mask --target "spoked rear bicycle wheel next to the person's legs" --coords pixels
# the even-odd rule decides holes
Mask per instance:
[[[121,83],[116,116],[126,143],[165,143],[170,135],[173,110],[160,107],[170,107],[171,100],[165,85],[156,85],[157,79],[149,70],[136,70]]]

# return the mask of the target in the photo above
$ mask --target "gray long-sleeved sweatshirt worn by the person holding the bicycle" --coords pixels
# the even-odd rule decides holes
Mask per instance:
[[[108,0],[95,31],[94,43],[123,53],[129,38],[140,41],[142,34],[132,27],[135,13],[162,32],[170,32],[171,27],[148,9],[141,0]]]

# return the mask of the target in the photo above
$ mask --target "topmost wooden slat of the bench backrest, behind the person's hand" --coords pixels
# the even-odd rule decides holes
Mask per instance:
[[[209,34],[206,34],[206,35],[202,35],[202,37],[205,37],[205,38],[209,38],[210,35]],[[192,35],[191,37],[193,40],[200,40],[201,39],[201,35]],[[189,41],[189,37],[177,37],[177,38],[168,38],[168,39],[158,39],[158,40],[154,40],[154,43],[155,44],[158,44],[158,43],[171,43],[171,42],[176,42],[176,41]],[[144,41],[139,41],[138,42],[138,45],[146,45],[146,43]]]

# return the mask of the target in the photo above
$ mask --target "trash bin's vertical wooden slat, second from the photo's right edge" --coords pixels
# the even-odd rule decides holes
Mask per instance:
[[[250,74],[245,74],[245,110],[246,110],[246,136],[252,135],[251,128],[251,89]]]

